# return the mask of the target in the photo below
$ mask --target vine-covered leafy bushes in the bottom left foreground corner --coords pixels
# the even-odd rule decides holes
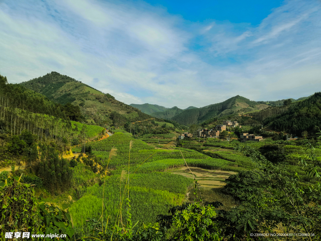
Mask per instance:
[[[5,232],[66,234],[66,237],[60,240],[70,240],[74,235],[70,215],[55,204],[48,205],[44,202],[38,204],[32,185],[22,182],[21,178],[13,177],[6,179],[4,185],[0,185],[2,240]],[[44,239],[50,240],[49,237]]]

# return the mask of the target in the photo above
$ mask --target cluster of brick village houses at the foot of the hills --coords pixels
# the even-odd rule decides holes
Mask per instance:
[[[216,125],[212,129],[203,128],[199,131],[200,138],[218,138],[220,132],[226,130],[226,127],[242,127],[239,125],[237,121],[223,121],[223,125]],[[178,140],[182,140],[184,138],[190,138],[193,134],[184,132],[180,136],[178,136]],[[242,133],[241,135],[241,142],[245,141],[262,141],[262,136],[255,136],[254,134]]]

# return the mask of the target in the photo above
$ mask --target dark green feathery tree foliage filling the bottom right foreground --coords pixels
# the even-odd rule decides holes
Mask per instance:
[[[244,238],[250,233],[282,228],[285,233],[312,233],[314,237],[300,238],[317,240],[321,235],[317,228],[321,217],[320,185],[300,183],[297,174],[289,175],[283,164],[271,163],[247,145],[239,145],[236,149],[250,156],[260,170],[240,172],[225,181],[226,191],[235,193],[241,203],[228,212],[222,211],[224,234]],[[315,162],[314,167],[319,164]],[[310,205],[311,202],[315,205]]]

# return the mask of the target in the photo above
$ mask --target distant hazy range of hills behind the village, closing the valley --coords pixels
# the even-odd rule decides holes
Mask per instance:
[[[152,116],[158,118],[177,121],[183,125],[191,125],[193,123],[201,123],[220,116],[230,115],[237,112],[249,112],[254,110],[262,110],[269,107],[266,104],[250,101],[242,96],[234,96],[224,102],[211,104],[201,108],[179,109],[173,107],[165,112],[155,112]]]

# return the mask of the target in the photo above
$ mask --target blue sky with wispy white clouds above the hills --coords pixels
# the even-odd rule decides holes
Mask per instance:
[[[265,2],[265,3],[264,3]],[[201,107],[321,90],[321,1],[0,1],[0,73]]]

